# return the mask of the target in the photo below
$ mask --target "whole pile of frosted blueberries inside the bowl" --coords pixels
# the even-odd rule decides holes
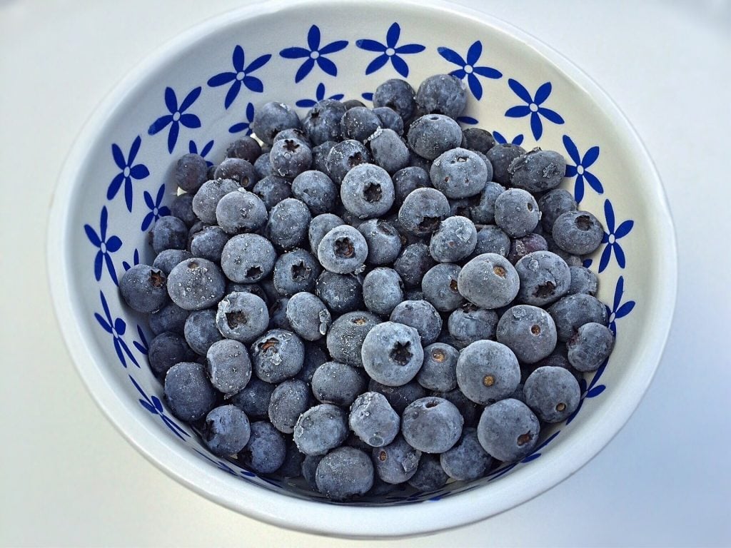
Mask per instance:
[[[461,129],[450,75],[374,105],[270,102],[221,164],[183,156],[156,259],[120,283],[173,414],[338,501],[525,457],[613,347],[564,158]]]

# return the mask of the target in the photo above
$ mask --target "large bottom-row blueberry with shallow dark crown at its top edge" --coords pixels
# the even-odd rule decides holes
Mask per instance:
[[[401,416],[406,442],[425,453],[443,453],[462,435],[464,419],[458,408],[442,397],[423,397],[409,403]]]

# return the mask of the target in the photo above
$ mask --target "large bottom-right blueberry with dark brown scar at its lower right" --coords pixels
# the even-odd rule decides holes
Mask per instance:
[[[540,425],[533,411],[519,400],[507,399],[485,408],[477,439],[488,454],[512,463],[528,456],[538,444]]]

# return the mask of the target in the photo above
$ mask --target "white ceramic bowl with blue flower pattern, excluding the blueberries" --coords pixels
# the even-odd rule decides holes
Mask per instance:
[[[370,104],[376,86],[451,72],[469,106],[459,119],[499,142],[561,151],[562,186],[602,221],[586,258],[599,275],[616,348],[582,381],[577,413],[528,457],[434,492],[401,490],[330,503],[214,456],[167,408],[146,362],[151,332],[118,295],[122,273],[150,263],[148,231],[175,197],[183,153],[220,161],[267,101],[300,114],[324,98]],[[512,26],[433,1],[255,4],[201,23],[117,85],[69,154],[53,197],[50,285],[58,321],[96,403],[145,457],[206,498],[284,528],[405,536],[482,520],[586,464],[629,419],[656,370],[676,285],[662,184],[632,126],[566,58]]]

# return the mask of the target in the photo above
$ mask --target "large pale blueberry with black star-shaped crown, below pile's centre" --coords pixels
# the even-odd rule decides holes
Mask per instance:
[[[378,324],[368,332],[360,356],[366,373],[390,387],[411,381],[424,361],[419,332],[393,321]]]

